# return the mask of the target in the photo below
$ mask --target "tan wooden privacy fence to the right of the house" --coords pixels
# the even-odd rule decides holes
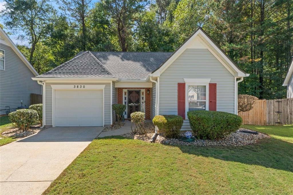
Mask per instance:
[[[238,112],[243,124],[285,125],[293,124],[293,98],[256,100],[253,109]]]

